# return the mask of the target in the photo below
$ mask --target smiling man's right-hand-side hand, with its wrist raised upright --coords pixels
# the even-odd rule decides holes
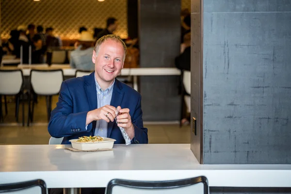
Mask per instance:
[[[133,139],[134,137],[134,127],[131,122],[131,117],[129,114],[129,109],[121,109],[120,106],[117,107],[117,110],[119,110],[118,116],[117,116],[117,126],[123,127],[127,134],[129,135],[130,139]]]

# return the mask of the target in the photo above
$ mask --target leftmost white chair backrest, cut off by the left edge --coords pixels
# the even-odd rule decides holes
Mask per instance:
[[[20,69],[0,70],[0,95],[16,95],[20,92],[23,75]]]

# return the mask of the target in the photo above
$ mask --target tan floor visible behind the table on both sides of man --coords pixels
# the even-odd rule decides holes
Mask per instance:
[[[52,108],[55,107],[58,97],[53,97]],[[0,123],[0,145],[31,145],[48,144],[49,132],[46,113],[45,97],[38,97],[35,105],[32,126],[22,127],[22,105],[20,104],[19,121],[15,120],[14,97],[8,97],[8,114],[4,116],[4,121]],[[2,102],[3,99],[2,99]],[[4,105],[4,103],[2,103]],[[28,106],[25,104],[25,123],[27,122]],[[5,114],[4,106],[2,113]],[[13,125],[13,126],[12,126]],[[148,129],[149,144],[189,144],[190,126],[179,128],[178,124],[173,125],[146,125]]]

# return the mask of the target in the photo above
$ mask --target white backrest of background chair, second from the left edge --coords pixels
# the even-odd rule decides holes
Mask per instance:
[[[57,95],[64,81],[64,73],[62,69],[32,69],[30,80],[32,89],[37,95]]]

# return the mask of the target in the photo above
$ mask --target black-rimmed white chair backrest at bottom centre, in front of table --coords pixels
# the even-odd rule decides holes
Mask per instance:
[[[132,181],[113,179],[106,188],[106,194],[208,194],[206,177],[169,181]]]

